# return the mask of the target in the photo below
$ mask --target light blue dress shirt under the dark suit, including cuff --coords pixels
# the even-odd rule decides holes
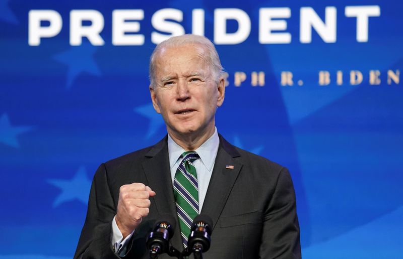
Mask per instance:
[[[217,128],[215,128],[213,136],[211,136],[205,143],[194,150],[200,157],[200,159],[196,159],[193,162],[197,174],[199,213],[201,208],[203,208],[203,203],[205,201],[210,178],[213,173],[219,145],[220,139],[218,137]],[[178,169],[181,162],[180,156],[183,152],[185,152],[185,150],[176,144],[171,136],[168,135],[168,155],[172,184],[175,178],[176,169]],[[126,236],[126,238],[123,239],[123,235],[117,227],[115,217],[112,220],[112,246],[116,253],[118,253],[120,256],[123,256],[126,253],[125,244],[135,231],[131,232],[128,236]]]

